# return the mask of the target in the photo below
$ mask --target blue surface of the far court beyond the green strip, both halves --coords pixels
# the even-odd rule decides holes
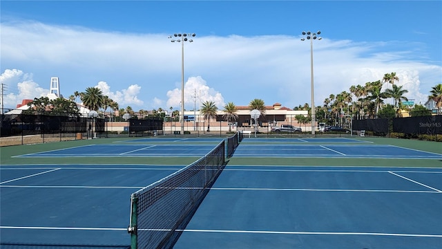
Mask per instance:
[[[200,138],[201,140],[202,138]],[[198,144],[198,138],[166,139],[167,143],[143,143],[144,138],[109,145],[85,145],[68,149],[43,151],[23,154],[16,157],[201,157],[209,153],[216,144]],[[135,141],[141,143],[133,143]],[[174,141],[171,143],[171,141]],[[186,141],[194,143],[185,144]],[[213,139],[220,142],[220,138]],[[257,141],[266,141],[259,143]],[[196,142],[196,143],[195,143]],[[270,142],[270,143],[267,143]],[[304,138],[281,140],[278,138],[245,138],[234,154],[235,157],[266,158],[407,158],[407,159],[442,159],[436,154],[416,149],[396,147],[393,145],[373,145],[361,140],[349,138]]]

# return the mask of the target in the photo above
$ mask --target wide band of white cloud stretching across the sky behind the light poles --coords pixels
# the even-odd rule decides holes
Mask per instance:
[[[10,80],[13,94],[8,101],[13,107],[24,95],[39,97],[44,90],[41,86],[55,76],[60,77],[65,96],[96,85],[122,108],[180,109],[181,44],[171,43],[169,34],[106,33],[36,22],[1,23],[0,32],[2,77]],[[299,38],[195,37],[193,43],[184,45],[186,110],[194,105],[198,109],[200,99],[214,101],[218,108],[225,102],[247,105],[254,98],[290,108],[309,103],[310,49],[309,43]],[[381,80],[391,72],[400,77],[398,84],[409,91],[408,98],[425,102],[431,87],[440,83],[442,67],[411,59],[414,50],[425,49],[421,44],[398,43],[316,41],[316,105],[323,104],[331,93]],[[26,73],[6,70],[12,65],[26,68]],[[37,90],[19,89],[19,82]],[[28,96],[31,93],[33,96]]]

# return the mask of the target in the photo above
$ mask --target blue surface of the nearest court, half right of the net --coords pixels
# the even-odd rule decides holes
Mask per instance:
[[[227,166],[174,248],[441,248],[441,169]]]

